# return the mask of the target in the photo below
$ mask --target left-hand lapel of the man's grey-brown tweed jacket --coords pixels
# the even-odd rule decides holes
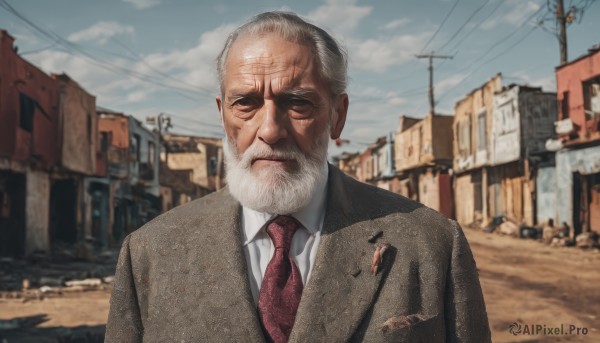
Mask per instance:
[[[194,264],[205,266],[202,283],[211,283],[212,291],[202,297],[205,321],[210,323],[206,341],[264,342],[256,306],[250,291],[246,258],[240,231],[241,207],[228,190],[213,198],[215,208],[212,218],[202,220],[204,225],[196,230],[199,242],[206,242]],[[188,244],[195,245],[192,240]],[[197,246],[197,245],[196,245]],[[194,249],[197,251],[198,249]],[[209,261],[207,261],[207,259]],[[209,334],[205,332],[205,334]]]

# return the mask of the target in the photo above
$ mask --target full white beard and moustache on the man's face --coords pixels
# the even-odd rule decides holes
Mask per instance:
[[[274,147],[255,140],[240,157],[237,147],[225,135],[223,152],[229,192],[243,206],[269,214],[290,214],[306,206],[323,175],[327,161],[329,127],[317,138],[308,156],[295,145]],[[252,170],[256,158],[280,158],[296,161],[293,171],[280,167]]]

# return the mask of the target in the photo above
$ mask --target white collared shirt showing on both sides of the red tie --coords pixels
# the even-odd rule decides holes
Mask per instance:
[[[304,285],[308,282],[312,266],[315,263],[323,220],[325,219],[327,174],[328,165],[325,163],[322,177],[310,202],[299,211],[291,214],[302,224],[292,238],[290,256],[298,266]],[[242,207],[244,254],[246,255],[250,289],[255,304],[258,304],[258,292],[265,270],[275,253],[273,242],[265,228],[267,222],[276,216],[277,214],[257,212]]]

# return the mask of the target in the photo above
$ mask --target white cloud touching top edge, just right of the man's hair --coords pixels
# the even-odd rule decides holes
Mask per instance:
[[[307,17],[316,25],[340,34],[354,30],[372,10],[371,6],[357,6],[356,0],[326,0]]]

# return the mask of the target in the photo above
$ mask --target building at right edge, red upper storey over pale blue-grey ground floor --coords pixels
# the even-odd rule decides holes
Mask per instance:
[[[556,86],[556,220],[574,237],[600,231],[600,45],[556,68]]]

